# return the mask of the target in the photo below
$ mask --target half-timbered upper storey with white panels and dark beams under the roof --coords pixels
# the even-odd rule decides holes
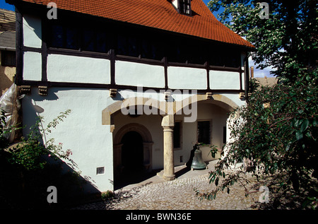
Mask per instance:
[[[87,21],[79,25],[64,17],[58,22],[41,18],[20,16],[20,85],[245,91],[246,54],[237,47],[145,28],[134,32],[109,22],[94,26],[105,34],[92,34]]]

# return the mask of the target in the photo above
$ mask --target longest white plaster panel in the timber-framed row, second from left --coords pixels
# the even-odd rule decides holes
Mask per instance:
[[[110,83],[110,60],[49,54],[47,80],[77,83]]]

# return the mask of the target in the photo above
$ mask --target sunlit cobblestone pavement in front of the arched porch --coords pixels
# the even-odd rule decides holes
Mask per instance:
[[[191,171],[189,171],[191,172]],[[92,210],[250,210],[259,201],[261,192],[249,184],[252,193],[245,196],[245,188],[235,184],[230,194],[220,192],[215,200],[199,199],[194,188],[201,192],[211,191],[208,173],[191,177],[178,178],[170,182],[144,183],[136,187],[114,191],[110,201],[78,206],[73,209]]]

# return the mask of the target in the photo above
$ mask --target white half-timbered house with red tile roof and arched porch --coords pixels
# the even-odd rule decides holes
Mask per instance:
[[[222,150],[254,46],[203,1],[6,1],[16,6],[23,124],[71,110],[49,138],[96,189],[131,172],[175,179],[196,142],[205,161],[208,146]]]

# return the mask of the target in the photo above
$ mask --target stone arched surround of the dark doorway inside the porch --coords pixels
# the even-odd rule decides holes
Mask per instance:
[[[143,139],[143,166],[145,170],[151,171],[152,170],[152,152],[153,152],[153,140],[151,137],[150,131],[143,126],[142,124],[138,123],[130,123],[122,126],[117,131],[117,134],[114,136],[113,140],[113,151],[114,151],[114,169],[115,172],[120,172],[122,167],[122,138],[126,133],[129,131],[136,131],[138,134],[141,135]]]

